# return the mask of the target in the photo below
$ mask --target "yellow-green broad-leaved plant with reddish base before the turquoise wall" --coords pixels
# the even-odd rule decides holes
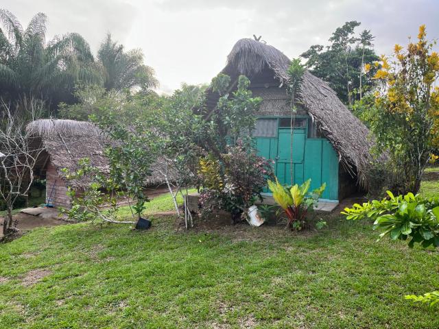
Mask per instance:
[[[281,185],[277,178],[276,182],[268,180],[268,187],[273,193],[276,203],[285,210],[287,215],[287,226],[294,230],[301,230],[305,224],[305,219],[310,210],[317,205],[318,198],[322,195],[326,184],[322,184],[319,188],[309,191],[311,179],[302,185],[295,184],[291,187]]]

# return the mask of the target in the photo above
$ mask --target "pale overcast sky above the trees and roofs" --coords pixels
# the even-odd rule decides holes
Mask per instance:
[[[439,38],[439,0],[0,0],[0,8],[23,25],[45,12],[48,38],[78,32],[94,53],[111,32],[126,49],[143,50],[165,93],[182,82],[210,82],[234,43],[252,34],[289,58],[326,45],[335,28],[352,20],[372,31],[380,54],[416,37],[420,24]]]

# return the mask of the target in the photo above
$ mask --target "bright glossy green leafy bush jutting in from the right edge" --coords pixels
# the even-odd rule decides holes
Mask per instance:
[[[345,208],[346,219],[374,219],[374,230],[382,230],[379,239],[389,235],[391,239],[407,240],[409,247],[420,243],[423,247],[439,247],[439,197],[425,198],[407,193],[395,197],[387,191],[389,198],[372,200],[362,205]]]

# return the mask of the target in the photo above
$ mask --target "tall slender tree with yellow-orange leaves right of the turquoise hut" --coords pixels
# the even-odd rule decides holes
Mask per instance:
[[[375,79],[375,110],[370,127],[377,147],[388,152],[397,193],[416,193],[425,167],[439,146],[439,55],[419,27],[417,42],[394,47],[392,60],[381,56]]]

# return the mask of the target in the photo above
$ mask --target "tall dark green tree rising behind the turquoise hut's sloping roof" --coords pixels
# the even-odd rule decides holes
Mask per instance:
[[[329,38],[331,45],[313,45],[300,55],[307,59],[305,65],[311,72],[328,82],[348,105],[360,99],[373,85],[370,76],[363,74],[363,68],[379,59],[372,49],[374,37],[370,31],[364,30],[360,36],[355,34],[360,24],[357,21],[344,23]]]

